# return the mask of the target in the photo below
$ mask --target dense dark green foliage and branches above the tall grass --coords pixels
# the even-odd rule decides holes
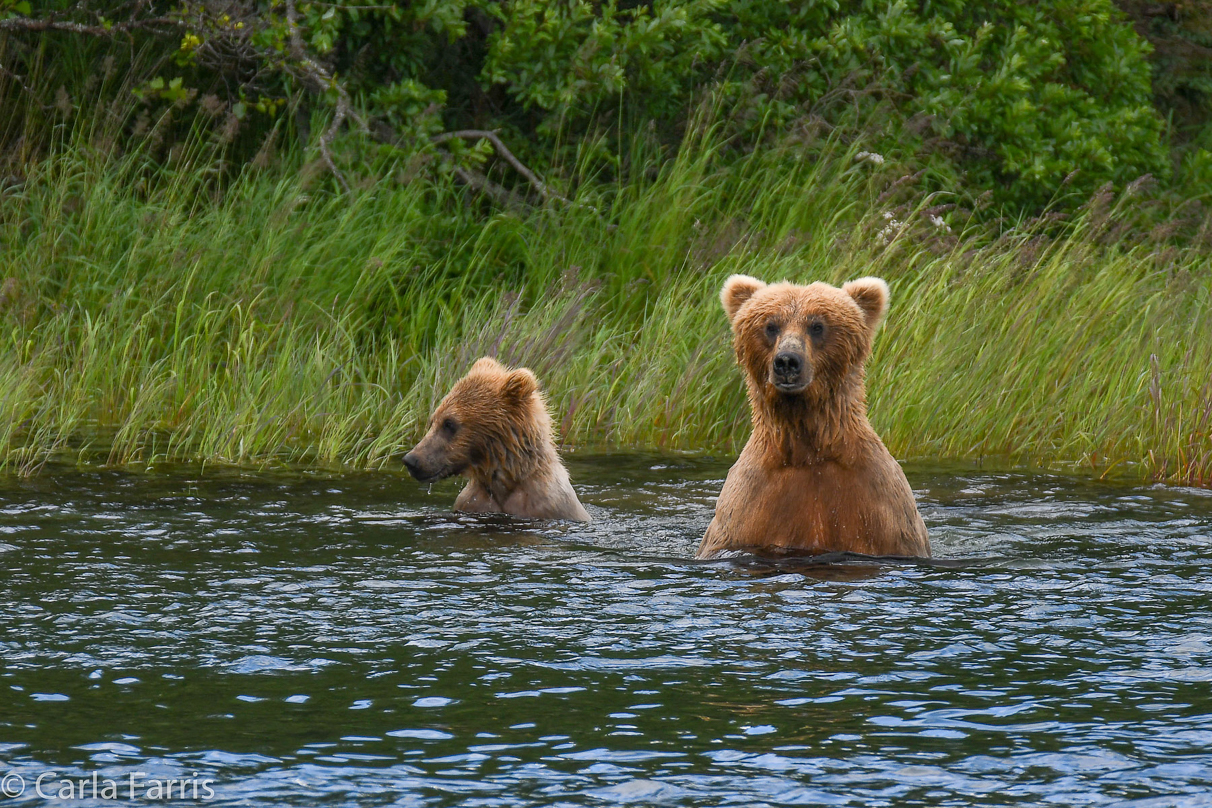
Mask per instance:
[[[732,154],[830,133],[1039,210],[1168,174],[1148,50],[1111,0],[0,0],[0,137],[28,154],[125,98],[119,139],[164,154],[211,120],[242,160],[273,133],[351,176],[530,191],[467,130],[566,185],[561,166],[624,172],[636,134],[669,153],[709,104]]]

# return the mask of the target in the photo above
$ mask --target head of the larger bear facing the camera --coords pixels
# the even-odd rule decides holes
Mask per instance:
[[[861,277],[829,283],[764,283],[733,275],[720,302],[732,322],[737,362],[762,397],[835,395],[871,353],[888,309],[888,285]]]

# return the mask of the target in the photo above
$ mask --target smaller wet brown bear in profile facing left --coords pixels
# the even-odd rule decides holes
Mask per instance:
[[[438,405],[404,465],[421,482],[468,477],[457,511],[589,521],[555,451],[534,374],[487,356]]]

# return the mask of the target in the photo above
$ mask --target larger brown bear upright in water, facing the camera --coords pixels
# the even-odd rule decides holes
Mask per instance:
[[[720,300],[753,434],[724,482],[698,557],[928,556],[904,471],[867,420],[863,363],[888,308],[887,283],[766,285],[733,275]]]

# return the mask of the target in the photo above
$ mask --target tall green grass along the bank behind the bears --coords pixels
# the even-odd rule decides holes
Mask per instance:
[[[898,457],[1212,482],[1207,248],[1111,239],[1114,200],[993,237],[891,160],[777,160],[692,143],[494,212],[399,177],[335,197],[307,168],[218,194],[200,161],[69,149],[0,191],[0,464],[382,466],[482,354],[536,369],[570,445],[731,451],[716,292],[743,271],[890,281],[869,397]]]

